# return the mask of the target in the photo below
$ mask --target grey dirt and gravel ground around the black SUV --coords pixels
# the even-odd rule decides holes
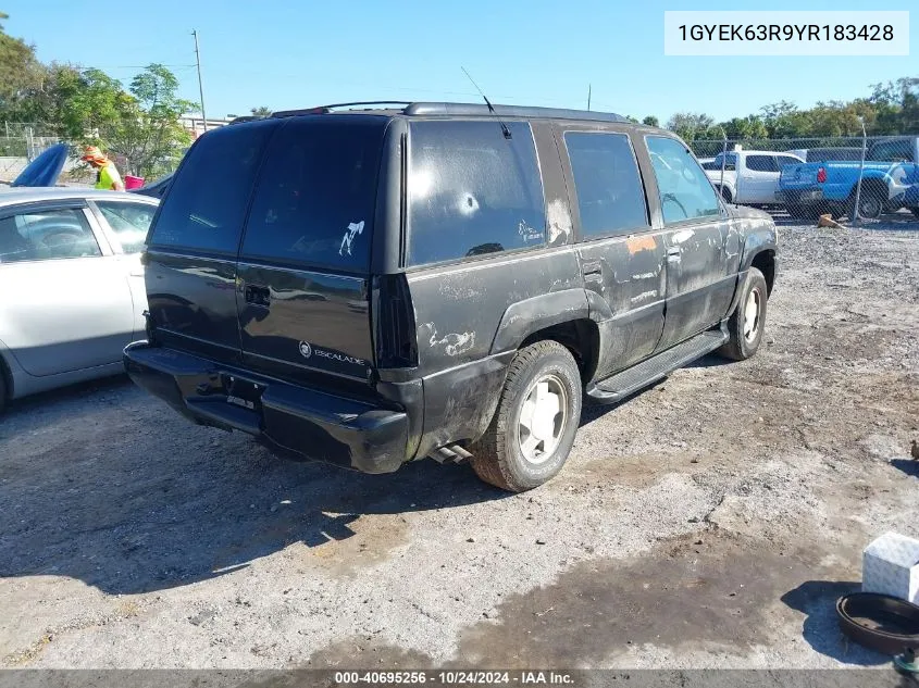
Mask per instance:
[[[781,225],[766,341],[586,409],[554,481],[361,476],[126,379],[0,418],[0,666],[832,667],[919,537],[919,224]]]

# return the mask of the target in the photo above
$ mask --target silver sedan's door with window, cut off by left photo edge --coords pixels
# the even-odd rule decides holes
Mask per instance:
[[[128,284],[85,201],[0,211],[0,339],[29,375],[117,363],[131,341]]]

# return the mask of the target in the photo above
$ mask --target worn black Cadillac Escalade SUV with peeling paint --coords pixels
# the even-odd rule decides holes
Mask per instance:
[[[582,399],[759,347],[769,215],[669,132],[596,112],[348,103],[209,132],[144,257],[134,380],[196,423],[525,490]]]

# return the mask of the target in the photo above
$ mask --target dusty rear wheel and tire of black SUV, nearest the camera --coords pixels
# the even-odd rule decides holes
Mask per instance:
[[[554,447],[531,460],[524,454],[522,445],[526,442],[521,438],[527,434],[530,440],[535,440],[536,433],[525,430],[521,415],[527,401],[534,403],[533,395],[538,395],[539,384],[546,385],[546,390],[551,385],[551,389],[558,392],[554,395],[557,402],[552,403],[557,403],[559,412],[549,416],[554,428],[551,433],[557,439],[548,443],[538,440],[537,446],[542,443],[544,450],[552,443]],[[574,443],[581,421],[582,395],[578,364],[563,346],[544,340],[518,351],[488,429],[469,448],[475,474],[486,483],[511,492],[533,489],[549,480],[564,465]],[[533,418],[535,414],[531,413],[531,426],[534,425]],[[536,452],[538,449],[529,451]]]

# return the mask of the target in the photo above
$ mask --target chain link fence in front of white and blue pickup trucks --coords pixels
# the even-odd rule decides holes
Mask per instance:
[[[797,139],[709,139],[690,147],[730,202],[784,208],[793,217],[850,222],[919,218],[919,134]]]

